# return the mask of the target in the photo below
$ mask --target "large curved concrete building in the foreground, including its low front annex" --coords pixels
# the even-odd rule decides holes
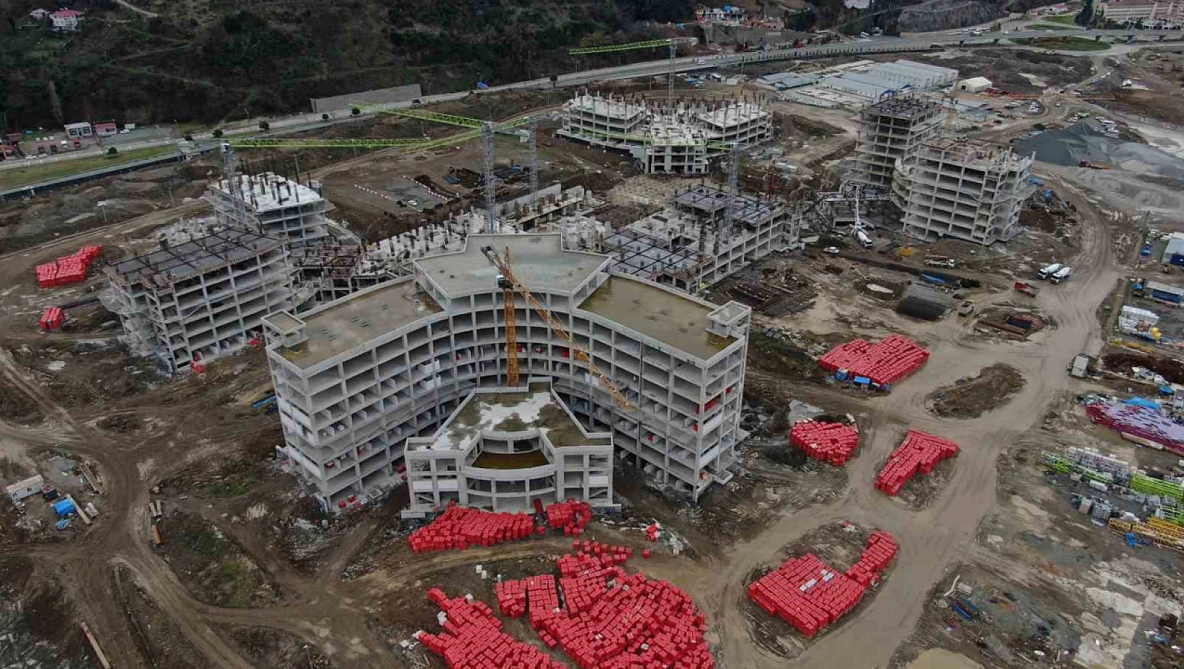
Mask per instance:
[[[506,308],[484,246],[506,250],[521,284],[625,405],[536,311],[521,301]],[[264,326],[285,465],[334,509],[398,483],[411,467],[414,509],[462,498],[514,508],[572,495],[607,504],[605,439],[693,498],[729,481],[745,437],[751,310],[617,274],[613,264],[565,250],[558,233],[471,234],[458,252],[412,260],[413,276],[300,316],[271,314]],[[508,387],[507,314],[517,387]],[[520,397],[474,397],[489,390]],[[523,403],[532,409],[514,410]],[[519,418],[507,420],[510,413]]]

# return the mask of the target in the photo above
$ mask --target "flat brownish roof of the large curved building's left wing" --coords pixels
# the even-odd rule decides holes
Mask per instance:
[[[302,314],[308,341],[278,350],[307,368],[440,310],[410,278],[384,283]]]

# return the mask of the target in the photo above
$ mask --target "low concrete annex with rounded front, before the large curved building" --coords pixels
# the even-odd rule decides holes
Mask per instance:
[[[404,451],[411,504],[422,517],[449,502],[495,512],[580,500],[612,507],[612,433],[590,433],[548,384],[480,388],[431,437]]]

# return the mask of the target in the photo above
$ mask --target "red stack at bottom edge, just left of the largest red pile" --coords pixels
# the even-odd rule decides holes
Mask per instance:
[[[439,635],[416,632],[427,650],[439,655],[451,669],[565,669],[538,648],[502,631],[502,622],[483,602],[449,599],[439,588],[427,592],[448,615]]]

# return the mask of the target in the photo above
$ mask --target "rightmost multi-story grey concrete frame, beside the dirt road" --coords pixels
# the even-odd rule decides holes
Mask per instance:
[[[935,137],[897,159],[893,201],[902,231],[933,239],[957,237],[978,244],[1008,242],[1019,233],[1019,210],[1031,195],[1035,154],[967,137]]]

